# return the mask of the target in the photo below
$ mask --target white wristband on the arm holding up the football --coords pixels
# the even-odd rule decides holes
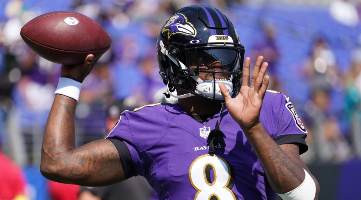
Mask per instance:
[[[80,88],[82,83],[77,82],[76,80],[61,77],[59,78],[58,87],[55,90],[55,94],[62,94],[64,96],[75,99],[79,101]]]

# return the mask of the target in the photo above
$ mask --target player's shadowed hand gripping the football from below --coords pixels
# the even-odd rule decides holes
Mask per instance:
[[[93,66],[99,60],[93,59],[93,55],[89,54],[83,64],[79,65],[62,65],[61,66],[61,77],[71,78],[77,82],[83,83],[83,80],[87,75],[90,74]]]

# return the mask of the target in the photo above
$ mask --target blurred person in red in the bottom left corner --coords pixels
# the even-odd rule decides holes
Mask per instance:
[[[27,200],[23,169],[0,150],[0,199]]]

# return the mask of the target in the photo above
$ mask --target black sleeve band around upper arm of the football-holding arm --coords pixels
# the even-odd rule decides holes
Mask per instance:
[[[114,138],[107,138],[107,139],[112,141],[112,143],[118,150],[120,162],[122,163],[122,167],[125,173],[125,178],[128,179],[132,176],[135,176],[133,160],[127,145],[125,145],[125,143],[121,140],[117,140]]]

